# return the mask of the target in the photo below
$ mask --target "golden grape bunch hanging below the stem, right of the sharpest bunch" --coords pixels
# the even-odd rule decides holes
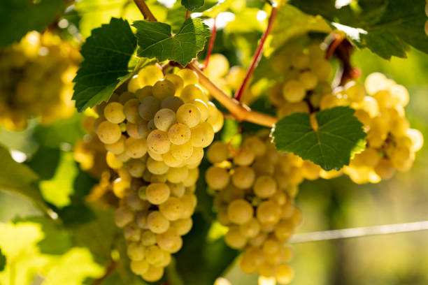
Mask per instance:
[[[214,142],[206,154],[213,166],[205,179],[215,191],[217,220],[229,227],[226,243],[243,250],[243,272],[289,284],[294,271],[287,263],[293,253],[285,242],[301,223],[294,196],[304,177],[293,165],[299,158],[279,153],[268,134],[248,136],[239,149]]]

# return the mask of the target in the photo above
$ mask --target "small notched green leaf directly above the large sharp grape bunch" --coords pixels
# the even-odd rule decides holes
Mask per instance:
[[[211,35],[200,19],[187,19],[178,31],[171,34],[171,26],[161,22],[136,21],[138,57],[157,58],[159,61],[174,60],[182,66],[188,64],[204,48]]]

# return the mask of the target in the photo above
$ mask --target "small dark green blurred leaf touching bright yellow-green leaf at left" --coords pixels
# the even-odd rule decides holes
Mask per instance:
[[[59,154],[59,149],[42,145],[25,164],[37,173],[38,177],[48,180],[55,175],[55,170],[59,163]]]

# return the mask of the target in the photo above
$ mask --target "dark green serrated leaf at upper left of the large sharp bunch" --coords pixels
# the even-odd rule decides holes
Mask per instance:
[[[127,20],[111,18],[109,24],[92,30],[82,47],[84,60],[73,80],[73,100],[79,112],[110,98],[119,78],[130,73],[128,64],[135,48],[136,38]]]

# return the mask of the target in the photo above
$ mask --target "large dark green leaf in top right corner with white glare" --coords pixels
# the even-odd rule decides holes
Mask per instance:
[[[408,45],[428,53],[424,0],[361,0],[335,8],[331,0],[292,0],[305,13],[322,15],[358,46],[380,57],[406,57]]]

